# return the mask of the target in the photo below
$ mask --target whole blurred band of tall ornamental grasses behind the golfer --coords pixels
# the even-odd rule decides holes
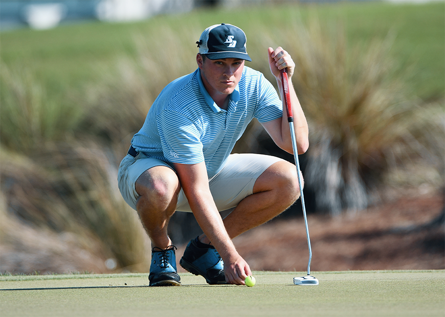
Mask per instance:
[[[15,259],[10,267],[32,273],[24,263],[31,257],[43,261],[41,254],[77,258],[81,264],[73,270],[83,265],[108,272],[114,265],[106,266],[107,259],[120,271],[148,270],[149,242],[117,189],[117,168],[155,97],[196,69],[194,43],[205,27],[220,22],[214,19],[147,24],[151,32],[132,32],[132,47],[100,59],[91,67],[94,80],[69,93],[49,89],[32,63],[0,61],[0,250],[23,255],[0,252],[0,271]],[[341,24],[314,16],[290,21],[285,28],[254,18],[226,22],[246,31],[253,58],[248,65],[272,83],[268,46],[283,46],[297,64],[292,80],[310,129],[303,174],[317,209],[337,215],[366,208],[384,185],[441,184],[443,105],[407,97],[406,78],[390,54],[396,35],[350,42]],[[254,123],[236,150],[257,151],[263,137]],[[185,237],[196,229],[189,224],[181,214],[170,225]],[[174,234],[174,243],[183,242]],[[48,263],[34,269],[62,267]]]

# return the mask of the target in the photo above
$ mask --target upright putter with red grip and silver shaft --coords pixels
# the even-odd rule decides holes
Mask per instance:
[[[289,94],[289,86],[287,82],[287,68],[281,69],[281,82],[284,91],[284,104],[287,111],[287,121],[291,129],[292,148],[294,150],[295,165],[297,165],[298,185],[300,186],[301,206],[303,207],[304,225],[306,227],[307,247],[309,248],[309,261],[307,262],[307,275],[302,277],[294,277],[295,285],[318,285],[318,279],[310,275],[310,260],[312,259],[312,249],[310,248],[309,229],[307,226],[306,207],[304,205],[303,184],[300,172],[300,162],[298,161],[297,141],[295,139],[294,116],[292,114],[291,96]]]

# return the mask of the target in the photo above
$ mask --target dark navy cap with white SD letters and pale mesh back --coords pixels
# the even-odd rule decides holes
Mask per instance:
[[[209,59],[240,58],[252,61],[246,51],[246,34],[235,26],[221,23],[208,27],[196,42],[199,54]]]

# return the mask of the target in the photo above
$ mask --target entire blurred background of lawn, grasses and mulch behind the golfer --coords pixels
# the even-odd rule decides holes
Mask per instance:
[[[311,268],[445,269],[444,17],[425,0],[0,0],[0,274],[148,272],[117,168],[222,22],[274,85],[269,46],[297,64]],[[294,160],[257,121],[234,152]],[[178,260],[201,233],[182,212],[169,230]],[[304,271],[300,201],[234,241],[252,270]]]

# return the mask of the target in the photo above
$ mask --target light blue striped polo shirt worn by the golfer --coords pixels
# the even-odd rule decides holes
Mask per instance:
[[[224,110],[204,88],[198,68],[161,91],[131,144],[138,152],[167,163],[205,161],[210,179],[253,118],[264,123],[281,116],[277,91],[261,72],[244,66]]]

